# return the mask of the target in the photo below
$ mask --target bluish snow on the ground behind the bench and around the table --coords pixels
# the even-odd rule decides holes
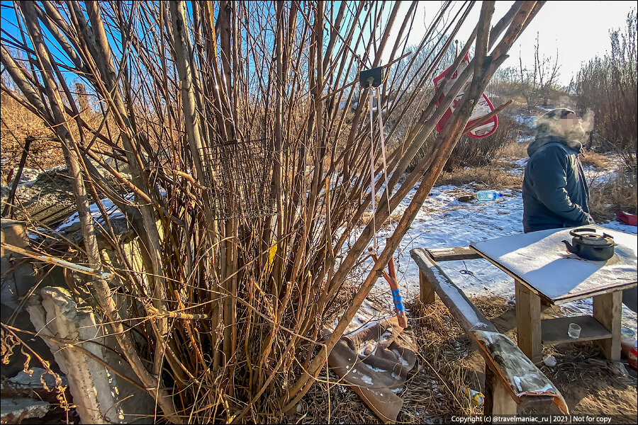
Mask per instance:
[[[520,167],[525,162],[516,162]],[[522,172],[515,169],[515,172]],[[588,180],[597,173],[599,178],[605,178],[600,170],[588,169]],[[503,198],[497,201],[461,203],[456,200],[459,189],[473,193],[471,186],[438,186],[432,188],[430,196],[425,200],[420,212],[415,218],[410,230],[398,251],[396,251],[397,275],[399,288],[403,300],[418,296],[419,280],[418,267],[410,257],[410,249],[413,248],[452,248],[455,246],[468,246],[471,242],[480,242],[496,237],[510,236],[522,233],[522,195],[520,191],[503,190]],[[499,190],[499,188],[493,188]],[[405,197],[398,211],[403,212],[408,207],[410,200],[416,193],[416,188]],[[456,193],[456,195],[455,195]],[[636,226],[624,225],[621,222],[612,221],[598,223],[609,229],[637,234]],[[396,226],[396,223],[393,223]],[[385,241],[390,235],[390,229],[379,232],[379,241]],[[383,245],[383,243],[381,243]],[[381,251],[381,249],[379,250]],[[372,261],[369,259],[364,264],[364,270],[369,271]],[[447,273],[457,286],[469,297],[500,296],[514,302],[514,281],[496,266],[487,260],[445,261],[440,263],[441,268]],[[384,278],[379,278],[372,290],[376,300],[386,303],[386,313],[393,312],[392,297],[388,283]],[[561,305],[566,315],[591,314],[591,298],[568,302]],[[391,314],[391,313],[390,313]],[[408,314],[409,316],[409,314]],[[622,306],[622,326],[637,329],[637,315]]]

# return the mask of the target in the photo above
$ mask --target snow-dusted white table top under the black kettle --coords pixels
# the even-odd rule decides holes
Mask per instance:
[[[607,261],[581,259],[567,251],[569,231],[549,229],[500,237],[470,246],[506,273],[552,302],[578,300],[635,286],[638,280],[638,238],[604,227],[596,232],[614,238],[614,256]]]

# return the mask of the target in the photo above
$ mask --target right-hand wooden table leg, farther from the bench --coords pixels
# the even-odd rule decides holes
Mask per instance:
[[[611,332],[611,339],[600,339],[598,344],[603,348],[605,357],[610,360],[620,359],[620,321],[622,319],[622,291],[593,297],[593,317]]]

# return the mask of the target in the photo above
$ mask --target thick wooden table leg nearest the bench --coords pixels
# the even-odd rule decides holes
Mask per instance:
[[[541,360],[540,297],[515,280],[518,346],[534,363]]]

